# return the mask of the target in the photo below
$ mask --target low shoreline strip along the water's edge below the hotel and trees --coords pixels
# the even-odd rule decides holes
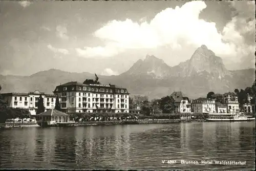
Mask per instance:
[[[92,126],[92,125],[124,125],[124,124],[170,124],[170,123],[181,123],[181,122],[204,122],[204,119],[154,119],[154,120],[120,120],[120,121],[86,121],[86,122],[75,122],[75,123],[58,123],[52,125],[52,127],[71,127],[71,126]],[[40,127],[37,123],[4,123],[0,124],[0,129],[13,129],[21,127]],[[50,126],[51,127],[51,126]]]

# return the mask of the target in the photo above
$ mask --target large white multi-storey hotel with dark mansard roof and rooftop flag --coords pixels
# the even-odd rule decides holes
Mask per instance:
[[[60,84],[53,93],[60,97],[60,108],[67,113],[129,113],[127,89],[113,84],[101,84],[97,76],[96,80],[87,79],[83,83],[71,81]]]

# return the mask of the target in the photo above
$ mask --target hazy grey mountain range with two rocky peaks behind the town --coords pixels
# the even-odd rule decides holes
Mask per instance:
[[[30,76],[0,75],[0,84],[2,93],[39,90],[52,94],[60,83],[83,82],[94,76],[88,72],[71,73],[50,69]],[[255,69],[229,71],[221,57],[202,45],[190,59],[174,67],[168,66],[162,59],[147,55],[120,75],[98,77],[102,84],[111,83],[127,88],[131,96],[146,95],[153,99],[170,95],[173,91],[182,91],[190,98],[197,98],[206,97],[209,91],[225,93],[250,87],[255,80]]]

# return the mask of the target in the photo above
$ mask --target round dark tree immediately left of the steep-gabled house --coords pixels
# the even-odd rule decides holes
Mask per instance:
[[[171,96],[162,97],[160,99],[160,109],[162,113],[174,113],[176,111],[175,100]]]

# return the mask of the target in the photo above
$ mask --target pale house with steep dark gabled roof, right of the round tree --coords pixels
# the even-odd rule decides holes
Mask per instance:
[[[173,92],[170,96],[172,96],[175,100],[178,113],[191,112],[190,100],[188,99],[188,97],[183,96],[182,92]]]

